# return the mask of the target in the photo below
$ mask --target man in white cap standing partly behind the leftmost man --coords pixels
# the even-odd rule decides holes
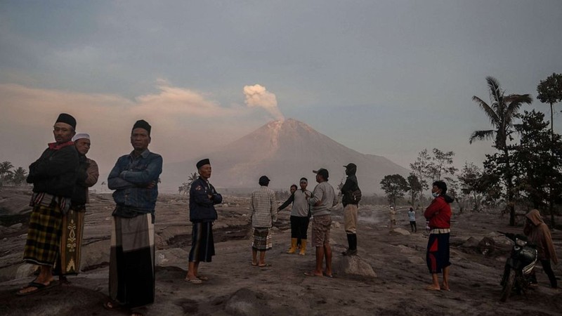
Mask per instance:
[[[79,272],[84,213],[86,203],[89,202],[88,188],[95,185],[100,176],[98,164],[86,157],[91,145],[90,136],[87,133],[77,133],[72,141],[78,151],[79,166],[70,210],[63,216],[60,254],[55,266],[55,272],[62,282],[67,282],[65,275],[77,275]]]

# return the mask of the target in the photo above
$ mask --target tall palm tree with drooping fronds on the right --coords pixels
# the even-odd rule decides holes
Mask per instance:
[[[505,162],[504,174],[502,176],[507,190],[509,225],[514,226],[514,185],[507,140],[508,138],[509,140],[513,140],[511,134],[518,131],[519,124],[514,124],[514,120],[518,116],[519,108],[523,104],[532,103],[532,98],[529,94],[509,94],[506,96],[505,91],[499,86],[497,79],[486,77],[486,81],[488,82],[488,90],[490,92],[490,105],[477,96],[473,96],[472,100],[485,112],[494,129],[474,131],[470,136],[469,143],[472,143],[474,140],[494,140],[493,147],[496,147],[497,150],[502,152],[503,161]]]

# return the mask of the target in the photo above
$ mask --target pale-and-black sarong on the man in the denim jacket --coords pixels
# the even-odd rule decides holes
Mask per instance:
[[[126,308],[154,302],[155,246],[150,213],[113,216],[110,250],[110,298]]]

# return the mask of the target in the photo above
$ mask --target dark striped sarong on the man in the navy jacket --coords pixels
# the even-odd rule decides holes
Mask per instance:
[[[211,262],[214,255],[213,223],[193,223],[189,262]]]

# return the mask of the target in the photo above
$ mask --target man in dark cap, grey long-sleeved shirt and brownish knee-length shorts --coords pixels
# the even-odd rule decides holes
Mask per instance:
[[[316,173],[316,182],[308,204],[312,206],[312,243],[316,247],[316,265],[313,271],[304,272],[308,277],[332,277],[332,248],[329,246],[329,230],[332,225],[332,207],[338,204],[334,187],[329,185],[329,173],[320,168]],[[326,270],[322,272],[322,261],[326,258]]]

